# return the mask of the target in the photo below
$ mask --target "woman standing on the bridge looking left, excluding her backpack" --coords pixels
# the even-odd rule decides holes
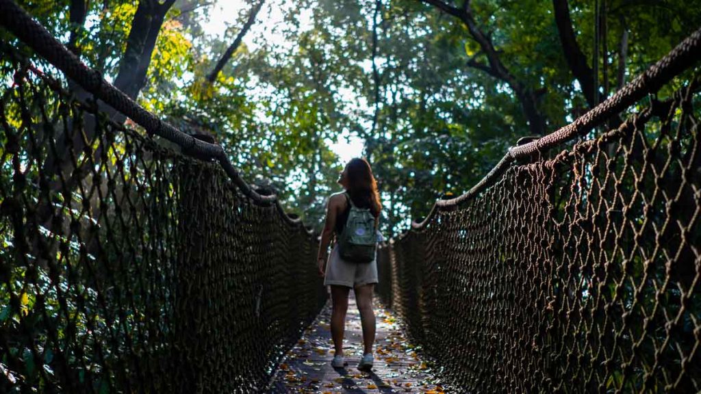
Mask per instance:
[[[335,235],[338,239],[346,226],[348,212],[351,210],[350,202],[352,201],[357,208],[369,208],[375,217],[375,228],[379,223],[382,205],[377,192],[377,183],[372,176],[369,163],[364,158],[354,158],[346,164],[346,168],[343,169],[341,177],[339,177],[339,184],[346,191],[335,193],[329,198],[318,254],[319,274],[325,276],[324,285],[331,286],[331,335],[336,349],[332,366],[340,368],[345,365],[343,360],[343,330],[348,310],[348,292],[353,287],[355,301],[358,304],[358,311],[360,311],[362,339],[365,347],[358,369],[369,370],[372,368],[372,344],[375,341],[372,292],[374,284],[377,283],[377,261],[376,259],[369,263],[345,261],[339,256],[338,245],[334,245],[331,256],[328,258],[328,264],[326,262],[327,250],[332,236]],[[325,267],[325,265],[327,266]]]

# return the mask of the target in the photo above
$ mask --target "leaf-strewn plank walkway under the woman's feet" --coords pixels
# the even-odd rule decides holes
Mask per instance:
[[[290,350],[275,372],[268,393],[447,393],[431,373],[430,365],[408,343],[404,332],[389,311],[375,299],[377,334],[374,367],[358,370],[362,355],[360,313],[351,291],[346,315],[343,352],[348,365],[334,368],[331,339],[331,305],[323,308],[297,345]]]

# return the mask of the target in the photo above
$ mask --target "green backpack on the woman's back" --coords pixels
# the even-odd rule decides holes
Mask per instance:
[[[339,254],[341,259],[355,263],[369,263],[375,259],[376,234],[375,217],[368,208],[353,205],[348,193],[346,200],[351,204],[346,227],[339,236]]]

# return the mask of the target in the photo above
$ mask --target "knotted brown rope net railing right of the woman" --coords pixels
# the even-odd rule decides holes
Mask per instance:
[[[646,74],[693,65],[699,37]],[[693,55],[660,74],[679,48]],[[381,299],[445,379],[470,393],[701,391],[700,86],[688,71],[669,100],[631,102],[619,128],[559,154],[529,144],[383,247]],[[564,141],[626,109],[620,97]]]

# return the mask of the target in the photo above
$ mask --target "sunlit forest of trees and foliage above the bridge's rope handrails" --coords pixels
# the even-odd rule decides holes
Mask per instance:
[[[366,156],[386,236],[701,26],[701,0],[18,3],[144,107],[213,135],[317,229],[343,161]]]

